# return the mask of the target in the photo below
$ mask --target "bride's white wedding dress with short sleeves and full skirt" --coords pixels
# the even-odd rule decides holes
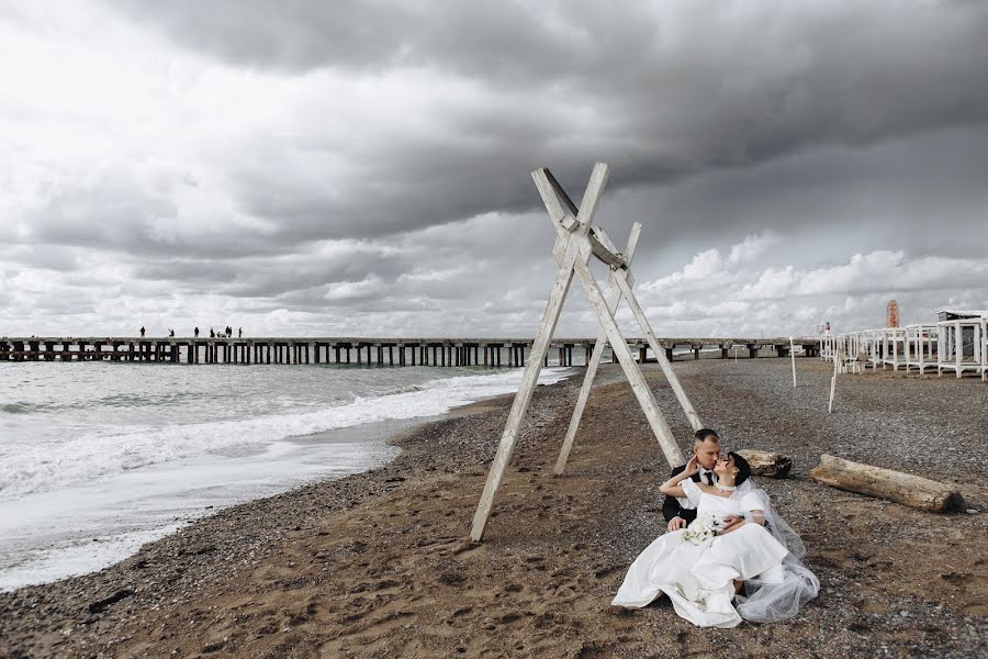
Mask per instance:
[[[696,504],[698,515],[740,516],[751,511],[765,511],[771,515],[767,496],[761,490],[736,491],[726,498],[703,492],[689,479],[680,484],[686,496]],[[778,523],[785,524],[781,520]],[[791,610],[788,615],[794,615],[802,603],[817,594],[819,582],[816,577],[799,565],[798,558],[789,554],[786,545],[759,524],[744,524],[700,545],[684,539],[683,533],[665,533],[649,545],[631,563],[611,604],[641,607],[665,593],[676,613],[694,625],[733,627],[742,619],[732,603],[736,579],[751,580],[757,590],[763,591],[762,600],[771,600],[768,607],[775,611],[774,614],[760,611],[761,618],[753,616],[762,622],[787,617],[777,611],[781,597],[787,600],[784,607]],[[809,583],[801,572],[798,578],[790,573],[791,578],[787,579],[789,567],[805,571]],[[749,597],[742,595],[739,601],[749,599],[754,602],[757,593],[749,593]],[[757,605],[760,610],[765,608],[764,602]]]

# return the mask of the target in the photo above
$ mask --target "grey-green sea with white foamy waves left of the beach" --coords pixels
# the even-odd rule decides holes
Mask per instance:
[[[574,372],[547,368],[540,382]],[[0,362],[0,591],[102,569],[202,515],[380,467],[395,432],[523,369]]]

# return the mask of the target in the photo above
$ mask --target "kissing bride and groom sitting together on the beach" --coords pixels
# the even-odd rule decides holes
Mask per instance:
[[[669,532],[631,563],[611,604],[642,607],[665,593],[700,627],[796,615],[820,588],[799,536],[772,511],[741,456],[720,455],[714,431],[697,431],[693,457],[662,484]]]

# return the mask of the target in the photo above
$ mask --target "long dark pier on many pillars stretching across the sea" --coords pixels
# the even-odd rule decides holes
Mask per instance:
[[[585,366],[595,338],[559,338],[551,343],[560,366]],[[640,361],[648,359],[644,338],[629,338]],[[800,337],[795,345],[804,355],[819,355],[820,339]],[[789,339],[778,338],[660,338],[666,358],[676,349],[719,348],[721,358],[731,350],[746,350],[748,358],[768,348],[774,356],[789,354]],[[486,366],[525,365],[532,339],[523,338],[357,338],[357,337],[0,337],[0,361],[144,361],[157,364],[355,364],[379,366]],[[575,361],[583,351],[582,364]],[[547,355],[548,362],[548,355]]]

